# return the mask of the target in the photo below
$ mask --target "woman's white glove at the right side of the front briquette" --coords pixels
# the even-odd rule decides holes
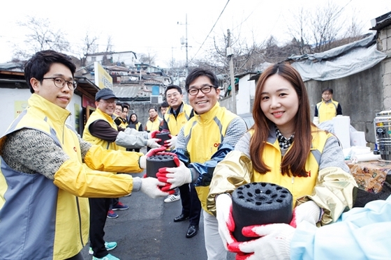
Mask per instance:
[[[303,222],[304,220],[316,225],[319,222],[320,217],[322,216],[320,213],[319,206],[313,201],[307,201],[303,204],[300,204],[296,208],[293,209],[293,217],[290,225],[292,227],[297,227],[297,224]]]

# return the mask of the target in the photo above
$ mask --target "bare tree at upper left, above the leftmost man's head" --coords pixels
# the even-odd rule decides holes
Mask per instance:
[[[47,19],[27,17],[27,22],[19,22],[19,25],[26,27],[30,33],[24,40],[24,47],[14,46],[15,57],[27,59],[44,49],[53,49],[57,52],[68,52],[70,49],[66,33],[53,29]]]

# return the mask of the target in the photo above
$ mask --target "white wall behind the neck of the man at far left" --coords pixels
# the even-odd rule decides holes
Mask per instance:
[[[31,93],[29,89],[0,89],[0,136],[6,132],[10,124],[15,119],[15,101],[26,101],[30,98]],[[79,104],[82,110],[82,98],[79,95],[73,95],[71,102],[67,109],[71,112],[66,123],[75,128],[75,103]],[[80,111],[80,118],[82,118],[82,111]]]

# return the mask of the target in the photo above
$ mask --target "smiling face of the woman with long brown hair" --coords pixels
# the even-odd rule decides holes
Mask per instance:
[[[288,80],[277,74],[266,79],[261,89],[260,109],[284,137],[295,132],[299,97]]]

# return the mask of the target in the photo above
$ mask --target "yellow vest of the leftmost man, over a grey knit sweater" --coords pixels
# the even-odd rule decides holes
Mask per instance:
[[[9,129],[7,132],[13,132],[22,128],[32,128],[46,132],[49,136],[55,133],[57,139],[61,142],[61,148],[66,154],[71,159],[78,160],[82,163],[78,136],[65,124],[66,118],[68,118],[71,112],[54,105],[52,102],[36,94],[31,95],[28,102],[29,107],[24,111],[27,114],[17,122],[17,125],[11,125],[10,128],[12,130]],[[1,142],[3,142],[4,138],[6,137],[1,138]],[[65,190],[58,189],[53,259],[67,259],[78,254],[84,245],[86,245],[88,236],[88,199],[75,197]],[[78,243],[76,241],[80,242]]]

